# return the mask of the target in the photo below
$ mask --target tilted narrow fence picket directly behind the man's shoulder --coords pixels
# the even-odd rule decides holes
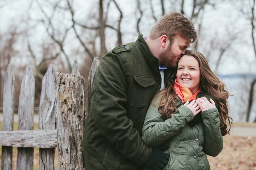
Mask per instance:
[[[91,91],[92,91],[92,81],[95,74],[95,71],[97,70],[98,66],[100,64],[100,60],[98,57],[94,57],[91,65],[91,69],[88,76],[88,101],[87,101],[87,109],[89,109],[91,105]],[[88,110],[87,110],[88,112]]]

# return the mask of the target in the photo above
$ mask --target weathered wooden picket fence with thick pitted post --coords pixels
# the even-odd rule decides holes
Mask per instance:
[[[99,59],[94,58],[88,77],[88,99]],[[4,80],[2,170],[12,169],[12,147],[18,148],[17,169],[33,169],[34,148],[39,148],[39,169],[53,170],[55,148],[58,148],[60,170],[83,170],[82,138],[89,106],[85,106],[84,77],[75,61],[71,74],[48,67],[42,80],[38,129],[34,130],[35,78],[28,65],[22,79],[18,130],[13,131],[15,78],[9,65]],[[89,105],[89,103],[88,103]]]

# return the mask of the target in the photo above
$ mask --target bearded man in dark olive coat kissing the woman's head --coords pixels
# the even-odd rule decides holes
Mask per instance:
[[[172,12],[156,22],[148,38],[140,34],[102,58],[84,128],[86,170],[164,168],[168,155],[142,142],[142,126],[155,92],[164,88],[180,55],[196,40],[189,19]]]

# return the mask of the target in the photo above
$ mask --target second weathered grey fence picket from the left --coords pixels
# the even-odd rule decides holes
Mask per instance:
[[[35,78],[27,65],[25,76],[21,82],[19,108],[18,108],[18,130],[34,129],[34,101],[35,101]],[[17,169],[33,169],[34,148],[18,148]]]

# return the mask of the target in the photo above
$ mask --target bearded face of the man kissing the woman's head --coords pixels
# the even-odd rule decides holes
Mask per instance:
[[[159,54],[159,64],[164,64],[167,67],[176,67],[180,55],[184,54],[190,46],[190,40],[181,37],[179,34],[174,36],[173,44],[170,41],[169,45]]]

